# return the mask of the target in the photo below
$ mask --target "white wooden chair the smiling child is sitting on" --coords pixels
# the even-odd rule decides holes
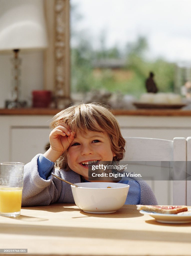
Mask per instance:
[[[125,137],[125,140],[127,144],[125,158],[123,161],[186,161],[186,139],[183,137],[176,137],[173,141],[139,137]],[[191,137],[189,143],[191,153]],[[182,173],[186,173],[186,169],[184,167],[177,171],[180,176]],[[153,189],[158,200],[158,204],[186,204],[185,180],[176,180],[173,182],[165,180],[150,180],[146,182]],[[171,186],[171,189],[169,186]]]

